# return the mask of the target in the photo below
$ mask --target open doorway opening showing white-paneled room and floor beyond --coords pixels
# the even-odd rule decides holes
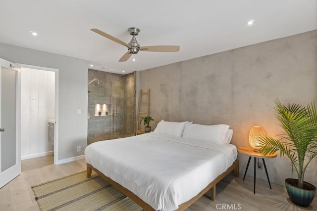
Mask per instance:
[[[21,163],[26,170],[51,165],[56,159],[58,78],[55,69],[20,66]]]

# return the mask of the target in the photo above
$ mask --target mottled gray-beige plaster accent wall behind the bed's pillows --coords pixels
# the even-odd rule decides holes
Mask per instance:
[[[274,99],[283,104],[317,101],[317,31],[141,71],[140,88],[151,89],[153,128],[162,119],[227,124],[234,131],[231,143],[247,146],[252,126],[264,127],[270,136],[282,132]],[[248,158],[238,154],[240,173]],[[273,183],[297,176],[285,157],[265,163]],[[305,181],[314,185],[316,166],[315,158],[305,174]],[[253,177],[253,160],[248,175]],[[257,178],[266,180],[265,171],[257,170]]]

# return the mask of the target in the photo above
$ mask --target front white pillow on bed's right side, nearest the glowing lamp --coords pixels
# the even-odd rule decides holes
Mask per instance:
[[[186,124],[183,132],[183,138],[224,145],[227,142],[227,140],[225,140],[225,134],[228,129],[229,126],[224,124],[211,126]]]

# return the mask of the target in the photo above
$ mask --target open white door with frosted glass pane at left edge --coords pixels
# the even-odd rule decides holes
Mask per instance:
[[[14,63],[0,58],[0,188],[21,173],[17,80]]]

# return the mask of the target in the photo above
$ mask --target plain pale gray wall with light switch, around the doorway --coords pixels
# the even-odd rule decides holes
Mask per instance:
[[[58,70],[58,130],[57,163],[71,161],[84,155],[87,146],[88,61],[69,56],[0,43],[0,58]],[[81,114],[77,114],[81,109]],[[77,152],[81,146],[81,152]]]

